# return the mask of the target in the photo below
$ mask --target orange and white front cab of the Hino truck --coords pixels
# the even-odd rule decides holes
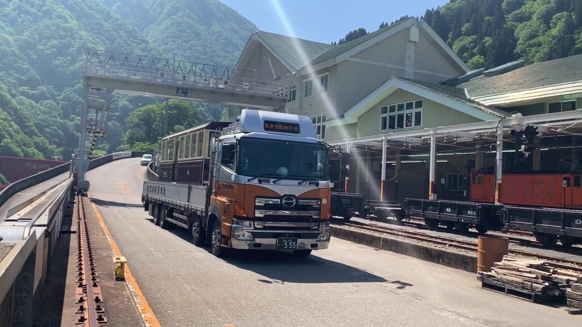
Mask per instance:
[[[328,146],[309,118],[243,110],[213,146],[213,253],[230,247],[308,255],[329,246]]]

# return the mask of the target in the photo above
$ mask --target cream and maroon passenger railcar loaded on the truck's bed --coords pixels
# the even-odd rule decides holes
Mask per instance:
[[[208,183],[210,141],[221,136],[229,122],[210,122],[162,139],[158,176],[160,182],[194,185]]]

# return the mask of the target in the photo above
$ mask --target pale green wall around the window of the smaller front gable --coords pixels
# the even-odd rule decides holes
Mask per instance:
[[[465,123],[480,122],[480,119],[467,115],[466,113],[449,108],[429,99],[421,98],[416,94],[404,90],[396,90],[391,95],[373,106],[358,118],[358,135],[359,137],[378,135],[381,133],[393,133],[399,130],[381,131],[380,128],[380,107],[390,104],[396,104],[404,101],[423,99],[423,116],[421,129],[459,125]],[[410,129],[404,129],[410,130]]]

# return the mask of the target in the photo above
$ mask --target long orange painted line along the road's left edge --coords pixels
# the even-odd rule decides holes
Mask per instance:
[[[88,198],[91,200],[91,206],[95,211],[97,220],[101,224],[101,228],[103,229],[103,233],[105,234],[105,238],[107,239],[113,254],[116,257],[122,256],[121,251],[119,251],[119,247],[117,247],[115,240],[113,240],[111,233],[109,233],[109,228],[107,228],[105,225],[105,221],[97,209],[97,205],[95,205],[90,196],[88,196]],[[125,264],[125,284],[127,285],[129,292],[132,293],[133,301],[136,303],[137,309],[140,311],[141,319],[143,320],[145,326],[161,327],[158,318],[155,317],[154,311],[151,310],[150,305],[147,303],[147,300],[145,300],[144,294],[141,293],[140,287],[137,285],[136,279],[133,278],[132,272],[129,270],[129,266],[127,264]]]

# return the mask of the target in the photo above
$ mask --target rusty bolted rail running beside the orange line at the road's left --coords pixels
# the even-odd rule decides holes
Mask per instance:
[[[102,326],[107,322],[103,315],[103,299],[97,267],[93,258],[91,233],[85,216],[83,197],[77,196],[77,292],[79,305],[76,325],[85,327]]]

